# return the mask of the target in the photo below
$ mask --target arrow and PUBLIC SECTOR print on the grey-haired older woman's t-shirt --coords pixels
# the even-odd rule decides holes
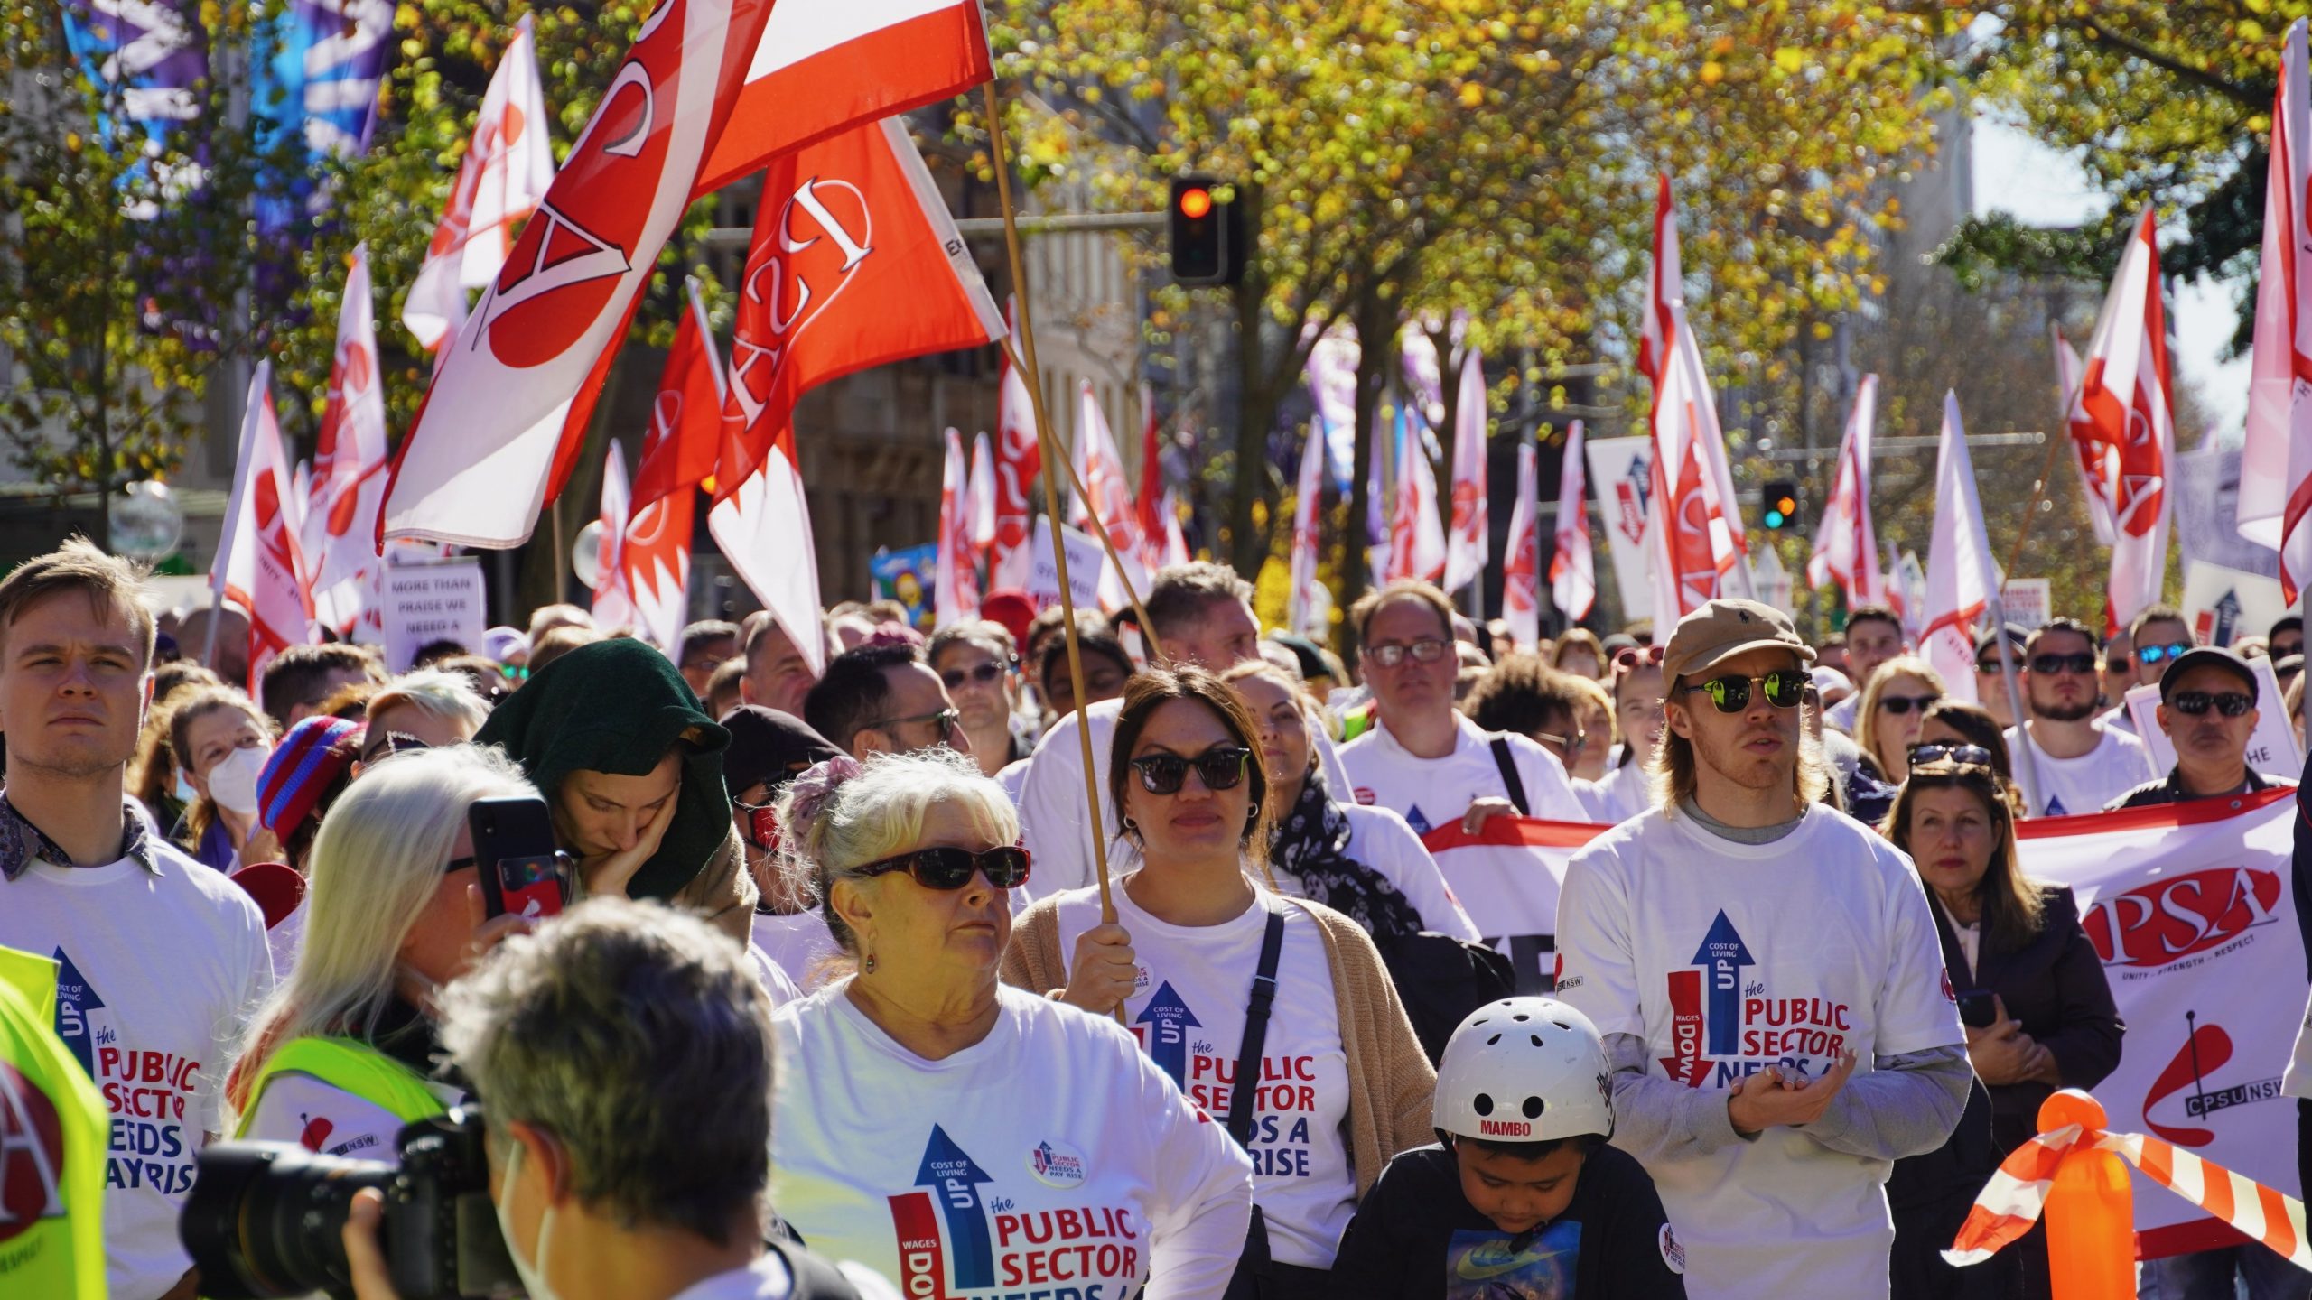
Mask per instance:
[[[1077,1189],[1089,1173],[1082,1152],[1050,1138],[1024,1164],[1045,1187]],[[909,1300],[1124,1300],[1140,1277],[1131,1207],[1022,1210],[939,1124],[916,1187],[885,1198]]]

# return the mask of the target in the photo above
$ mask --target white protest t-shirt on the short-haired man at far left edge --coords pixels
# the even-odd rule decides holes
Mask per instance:
[[[150,1300],[192,1268],[176,1217],[243,1018],[273,990],[266,921],[222,872],[148,837],[157,870],[25,865],[0,884],[0,946],[55,958],[55,1034],[111,1108],[104,1275]]]

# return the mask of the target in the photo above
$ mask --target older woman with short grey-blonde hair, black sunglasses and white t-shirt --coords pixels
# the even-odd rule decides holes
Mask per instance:
[[[925,1293],[1131,1295],[1156,1275],[1216,1300],[1248,1161],[1117,1022],[996,981],[1029,874],[1003,789],[946,749],[842,756],[788,784],[779,823],[855,962],[777,1013],[779,1214]],[[962,1235],[925,1268],[913,1242],[941,1221]]]

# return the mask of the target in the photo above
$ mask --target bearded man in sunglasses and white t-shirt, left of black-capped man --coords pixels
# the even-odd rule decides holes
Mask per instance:
[[[2102,812],[2157,775],[2141,740],[2095,717],[2095,634],[2076,618],[2048,620],[2023,645],[2030,752],[2014,726],[2007,749],[2016,780],[2035,791],[2032,817]]]

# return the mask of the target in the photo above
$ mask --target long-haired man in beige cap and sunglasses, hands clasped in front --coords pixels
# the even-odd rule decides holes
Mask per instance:
[[[1926,893],[1815,800],[1813,650],[1711,601],[1662,655],[1667,798],[1591,840],[1558,900],[1558,997],[1614,1059],[1614,1145],[1688,1242],[1688,1295],[1887,1295],[1898,1157],[1940,1147],[1972,1071]]]

